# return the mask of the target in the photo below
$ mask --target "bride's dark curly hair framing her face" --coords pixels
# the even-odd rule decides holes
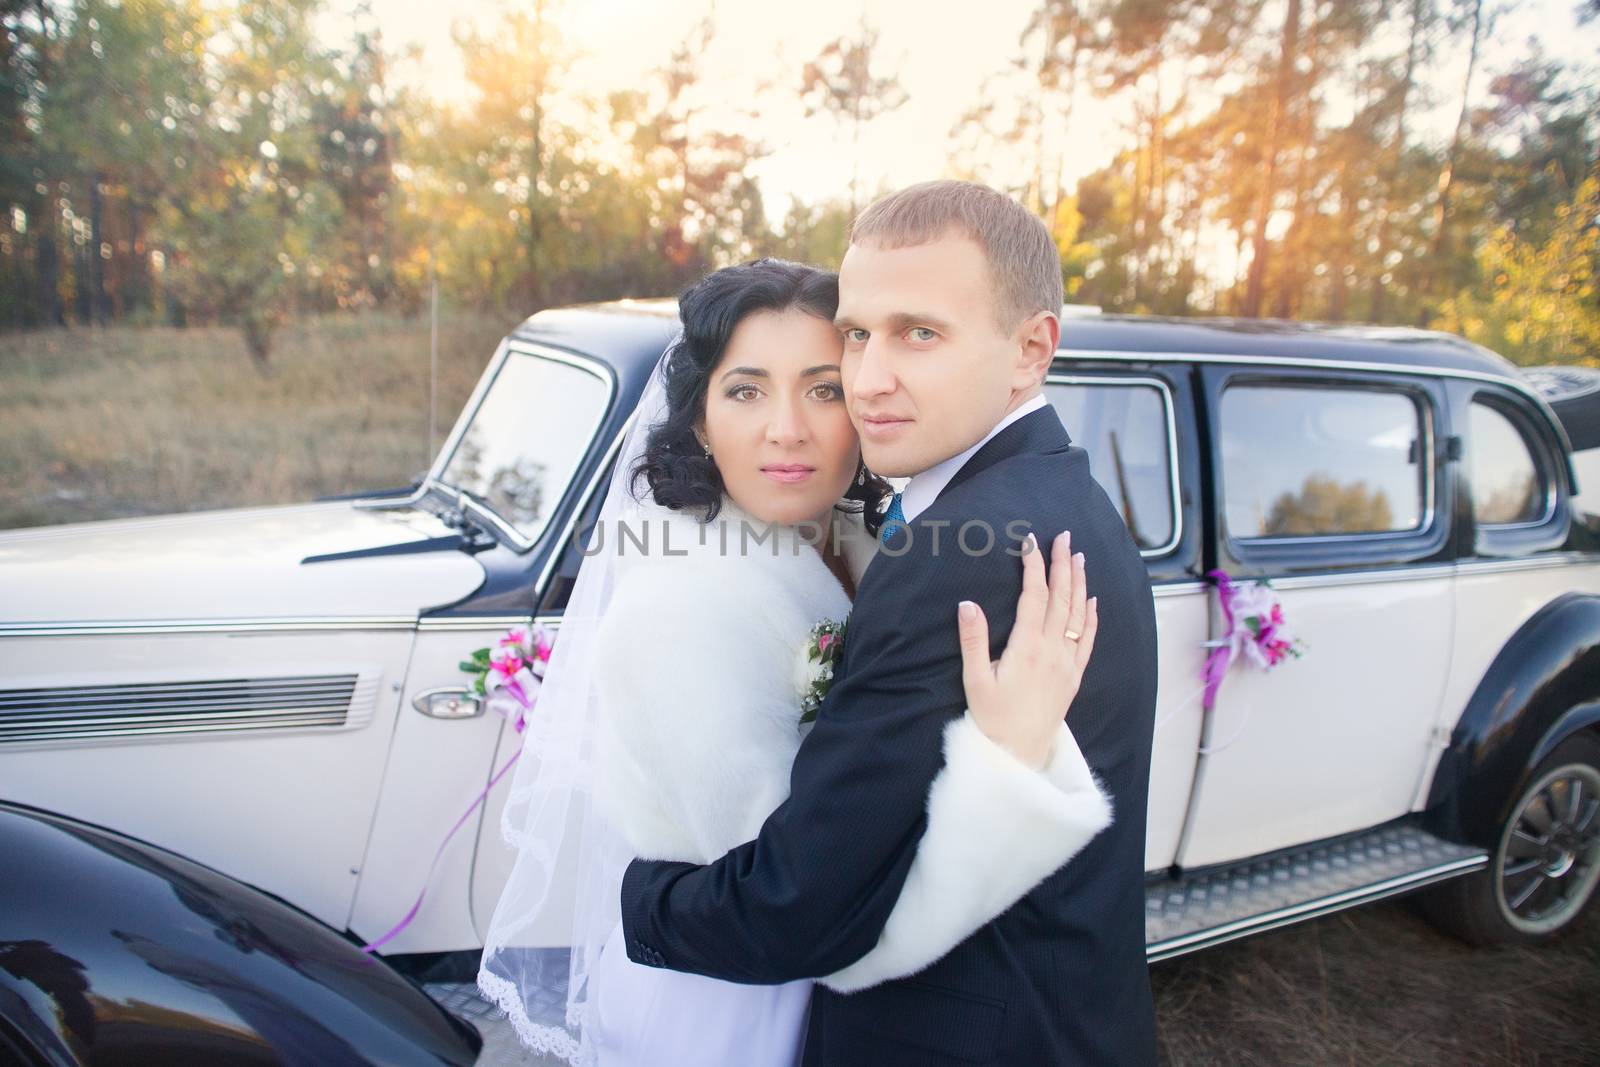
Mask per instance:
[[[717,517],[725,491],[722,474],[694,435],[706,419],[710,373],[746,315],[790,307],[834,322],[838,275],[787,259],[752,259],[714,270],[678,298],[683,338],[666,357],[667,418],[645,438],[645,454],[632,474],[635,493],[643,478],[662,507],[699,510],[706,522]],[[875,534],[890,494],[883,478],[859,467],[845,499],[854,502],[851,510],[859,510]]]

